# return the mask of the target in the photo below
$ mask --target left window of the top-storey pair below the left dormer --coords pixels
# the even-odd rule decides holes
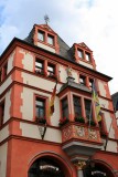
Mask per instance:
[[[43,70],[44,70],[43,61],[36,59],[36,61],[35,61],[35,72],[36,73],[43,73]]]

